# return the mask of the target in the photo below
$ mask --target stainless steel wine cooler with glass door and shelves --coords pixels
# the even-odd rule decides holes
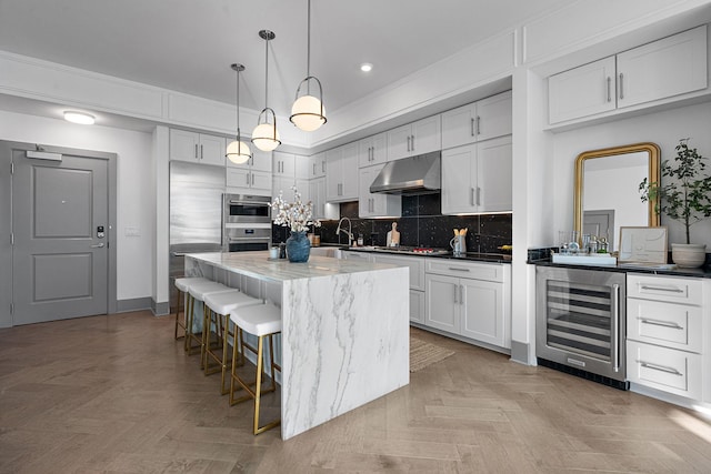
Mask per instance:
[[[625,274],[537,266],[539,365],[618,389],[625,381]]]

